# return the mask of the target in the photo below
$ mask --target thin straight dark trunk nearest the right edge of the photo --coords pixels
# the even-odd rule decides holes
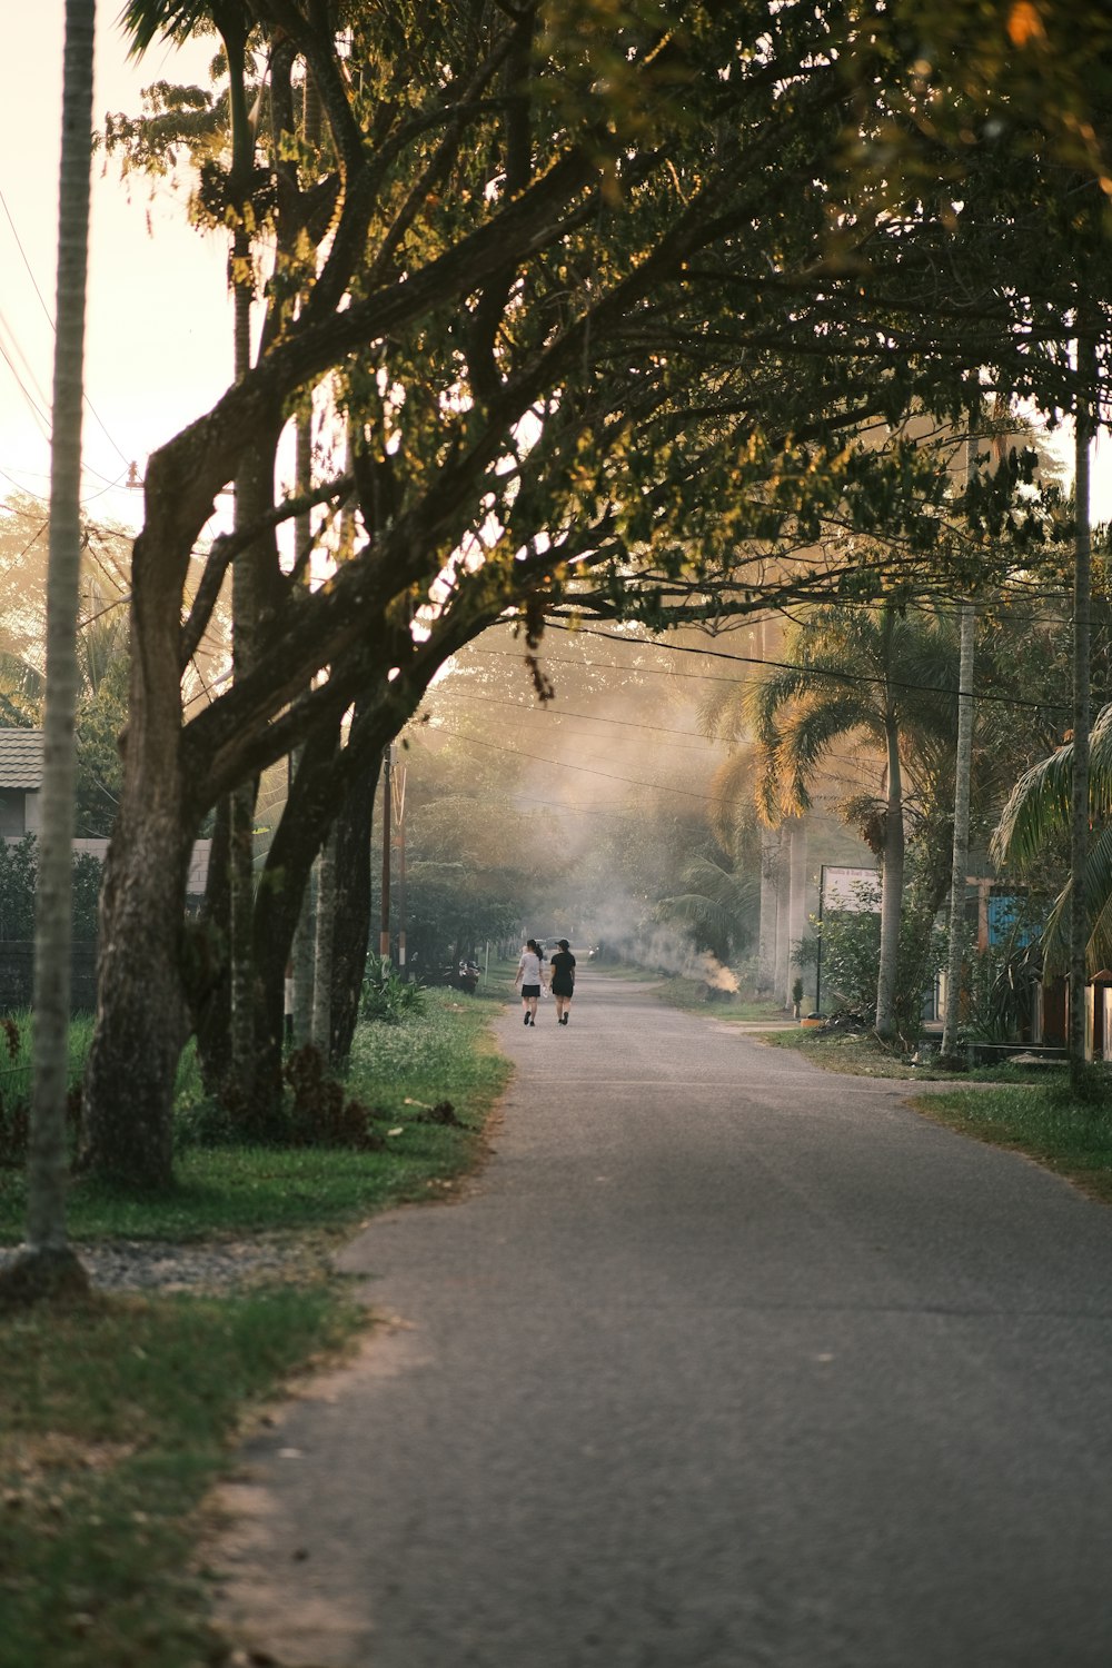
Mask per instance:
[[[1085,309],[1079,309],[1085,312]],[[1069,966],[1069,1063],[1074,1089],[1085,1078],[1085,1002],[1089,899],[1085,866],[1089,862],[1089,639],[1092,615],[1092,527],[1089,447],[1094,434],[1092,390],[1097,382],[1094,340],[1077,334],[1077,410],[1074,452],[1074,774],[1070,787],[1070,966]]]

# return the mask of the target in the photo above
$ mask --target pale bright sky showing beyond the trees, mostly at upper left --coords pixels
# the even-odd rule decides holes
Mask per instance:
[[[63,0],[0,0],[8,82],[0,100],[0,492],[48,495],[53,270]],[[93,122],[105,110],[138,113],[155,80],[207,85],[213,43],[183,52],[155,45],[127,57],[117,17],[100,0]],[[93,515],[133,522],[140,494],[122,487],[127,465],[202,415],[232,374],[232,312],[225,240],[185,224],[165,183],[95,160],[85,344],[85,480]],[[1094,512],[1112,515],[1112,445],[1095,470]]]

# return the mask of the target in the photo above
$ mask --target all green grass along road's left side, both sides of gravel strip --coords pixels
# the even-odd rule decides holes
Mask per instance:
[[[430,991],[422,1017],[360,1029],[348,1089],[392,1131],[385,1151],[192,1146],[165,1199],[77,1179],[72,1236],[313,1244],[442,1194],[478,1161],[508,1078],[492,997]],[[463,1128],[422,1121],[445,1099]],[[23,1198],[22,1173],[0,1171],[0,1243],[20,1241]],[[367,1324],[312,1258],[227,1296],[105,1293],[0,1314],[0,1668],[222,1665],[193,1568],[198,1506],[243,1423]]]

